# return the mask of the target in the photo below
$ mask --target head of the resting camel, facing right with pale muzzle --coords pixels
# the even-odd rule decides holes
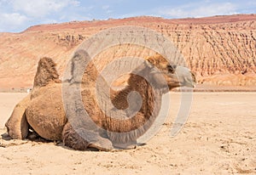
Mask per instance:
[[[195,74],[187,67],[181,65],[171,65],[163,56],[156,54],[146,59],[146,65],[152,67],[148,72],[148,76],[153,77],[154,83],[158,88],[163,88],[163,92],[167,93],[172,88],[189,87],[195,88]],[[157,68],[157,69],[154,69]],[[164,79],[162,78],[164,77]]]

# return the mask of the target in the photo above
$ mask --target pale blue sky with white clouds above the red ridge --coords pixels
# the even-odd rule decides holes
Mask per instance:
[[[0,0],[0,31],[71,20],[107,20],[138,15],[164,18],[256,14],[255,0]]]

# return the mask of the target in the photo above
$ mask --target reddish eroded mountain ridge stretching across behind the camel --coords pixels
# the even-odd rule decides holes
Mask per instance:
[[[21,33],[0,33],[0,88],[32,87],[38,59],[53,58],[60,72],[73,51],[98,31],[120,25],[149,27],[168,37],[195,71],[200,84],[256,86],[256,14],[166,20],[137,17],[37,25]],[[147,56],[154,51],[125,45],[98,56],[99,67],[118,56]]]

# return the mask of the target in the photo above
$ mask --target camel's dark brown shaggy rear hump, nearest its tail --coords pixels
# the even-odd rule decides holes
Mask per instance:
[[[49,82],[61,82],[61,80],[56,71],[55,62],[48,57],[44,57],[38,61],[38,71],[34,78],[34,88],[44,87]]]

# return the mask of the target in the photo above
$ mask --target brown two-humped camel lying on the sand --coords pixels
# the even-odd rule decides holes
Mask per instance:
[[[81,59],[88,63],[88,66],[79,81],[81,71],[76,62]],[[160,73],[155,71],[154,67],[160,70]],[[176,71],[183,73],[177,77]],[[147,132],[157,117],[160,110],[160,94],[167,93],[172,88],[195,85],[195,76],[189,69],[170,65],[159,55],[148,57],[142,65],[132,71],[127,86],[121,90],[109,88],[96,67],[90,64],[90,59],[83,50],[73,54],[70,75],[67,80],[61,82],[53,60],[49,58],[39,60],[32,92],[15,106],[5,125],[11,138],[26,138],[28,129],[32,128],[40,137],[61,140],[64,145],[74,150],[86,150],[88,147],[97,150],[133,148],[137,144],[137,138]],[[96,99],[97,80],[101,80],[100,85],[97,86],[103,89],[101,92],[108,92],[110,89],[110,100],[114,107],[111,111],[123,110],[126,116],[119,118],[108,116],[96,104],[97,100],[102,100]],[[80,114],[77,106],[69,103],[63,105],[63,92],[61,92],[63,84],[69,87],[81,85],[79,90],[83,106],[79,107],[83,107],[90,115],[89,120],[78,118]],[[137,100],[133,103],[129,102],[129,98],[137,98],[136,95],[131,95],[134,91],[140,95],[142,100],[138,103],[141,104],[137,104]],[[66,100],[67,102],[73,100],[72,95],[67,95]],[[137,109],[137,106],[141,108]],[[66,110],[73,107],[75,110],[67,113]]]

